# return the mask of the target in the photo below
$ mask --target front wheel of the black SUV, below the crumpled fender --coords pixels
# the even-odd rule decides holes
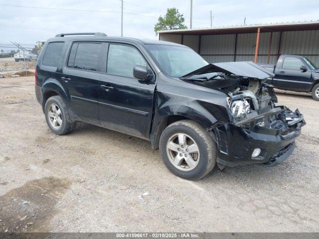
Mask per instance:
[[[179,137],[184,142],[186,138],[186,143],[180,143]],[[193,146],[193,143],[197,144],[197,148]],[[174,122],[168,125],[160,135],[160,156],[165,166],[176,176],[188,180],[200,179],[214,168],[217,157],[216,148],[216,143],[208,132],[191,120]]]

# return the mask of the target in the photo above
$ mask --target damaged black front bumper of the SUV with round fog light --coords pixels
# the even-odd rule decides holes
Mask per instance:
[[[285,107],[281,108],[283,110],[280,113],[272,116],[273,120],[280,121],[282,114],[292,113]],[[259,126],[260,118],[244,125],[226,123],[215,127],[213,130],[218,145],[219,166],[235,167],[255,163],[274,166],[283,162],[293,153],[295,140],[301,133],[301,127],[306,124],[298,110],[293,114],[301,119],[291,125],[282,121],[286,125],[285,130],[265,125]],[[252,153],[256,148],[260,148],[261,153],[253,158]]]

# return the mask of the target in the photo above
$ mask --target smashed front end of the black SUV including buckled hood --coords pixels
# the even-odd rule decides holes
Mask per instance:
[[[295,139],[306,124],[303,115],[285,106],[276,106],[278,99],[271,85],[264,81],[273,73],[252,62],[215,63],[198,69],[190,76],[219,72],[218,77],[197,81],[227,95],[229,122],[217,121],[208,130],[217,141],[217,163],[225,166],[263,163],[276,165],[288,158]],[[196,78],[192,78],[196,81]]]

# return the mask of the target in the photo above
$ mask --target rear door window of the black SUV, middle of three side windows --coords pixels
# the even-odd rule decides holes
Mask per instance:
[[[72,50],[74,50],[73,46],[71,48],[69,61],[72,61],[71,54],[72,54]],[[77,69],[83,69],[83,70],[89,70],[89,71],[98,71],[99,56],[100,56],[101,49],[102,49],[101,42],[90,42],[90,43],[79,42],[76,53],[75,53],[73,67]],[[71,65],[72,65],[72,62],[71,62]]]

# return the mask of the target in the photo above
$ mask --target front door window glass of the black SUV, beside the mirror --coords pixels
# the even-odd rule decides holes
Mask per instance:
[[[107,73],[134,77],[133,69],[136,65],[147,66],[140,52],[128,45],[110,44],[107,62]]]

